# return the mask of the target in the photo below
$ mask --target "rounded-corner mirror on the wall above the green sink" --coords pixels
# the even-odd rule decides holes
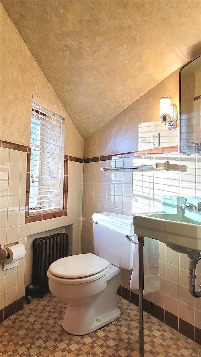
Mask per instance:
[[[201,152],[201,56],[180,69],[179,151]]]

